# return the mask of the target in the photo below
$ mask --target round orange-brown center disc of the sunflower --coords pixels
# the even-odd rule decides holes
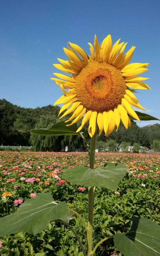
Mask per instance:
[[[90,61],[75,78],[78,100],[87,110],[102,113],[114,109],[126,89],[121,71],[106,62]]]

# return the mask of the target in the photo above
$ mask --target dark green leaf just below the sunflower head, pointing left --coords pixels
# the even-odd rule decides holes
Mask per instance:
[[[66,126],[66,124],[70,124],[70,122],[65,123],[65,121],[58,122],[53,124],[52,127],[46,129],[35,129],[30,132],[39,134],[39,135],[49,135],[49,136],[58,136],[58,135],[80,135],[77,131],[77,125],[72,124],[70,126]]]

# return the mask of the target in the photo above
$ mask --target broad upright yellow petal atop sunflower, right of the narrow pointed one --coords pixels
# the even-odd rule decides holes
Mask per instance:
[[[108,62],[111,50],[112,50],[112,38],[111,38],[111,35],[108,35],[102,41],[102,44],[100,47],[100,59],[102,61]]]

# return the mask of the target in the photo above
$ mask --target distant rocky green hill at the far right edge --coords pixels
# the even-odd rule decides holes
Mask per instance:
[[[150,144],[154,139],[160,140],[160,124],[147,125],[141,129],[148,132]]]

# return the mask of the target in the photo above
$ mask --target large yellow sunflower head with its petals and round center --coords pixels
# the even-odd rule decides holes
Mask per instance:
[[[121,120],[128,129],[131,126],[129,115],[140,121],[132,106],[145,109],[133,93],[135,89],[150,89],[142,82],[148,78],[136,76],[147,71],[149,63],[128,64],[135,47],[132,46],[123,54],[127,43],[119,41],[120,39],[112,47],[111,35],[108,35],[99,45],[95,35],[94,47],[88,43],[90,55],[69,42],[68,49],[64,48],[64,52],[70,60],[58,59],[61,64],[53,64],[61,71],[72,74],[54,73],[56,78],[51,79],[61,87],[64,94],[54,103],[64,103],[59,115],[65,112],[60,118],[71,114],[66,121],[73,120],[67,124],[69,126],[83,117],[77,132],[88,120],[88,133],[91,137],[96,131],[96,124],[99,135],[104,130],[107,136],[115,126],[118,129]]]

